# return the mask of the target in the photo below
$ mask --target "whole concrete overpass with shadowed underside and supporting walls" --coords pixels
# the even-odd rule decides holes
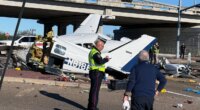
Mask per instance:
[[[37,19],[39,23],[44,24],[44,33],[49,31],[53,25],[57,25],[58,34],[62,35],[66,34],[66,25],[73,24],[76,28],[90,13],[111,16],[115,19],[104,19],[103,24],[122,26],[120,31],[115,32],[119,37],[127,35],[133,37],[133,35],[138,36],[142,33],[158,36],[161,52],[175,53],[177,6],[155,2],[109,1],[27,0],[23,17]],[[21,5],[22,0],[0,0],[0,16],[18,17]],[[200,28],[190,27],[200,24],[199,13],[200,9],[191,9],[184,12],[181,19],[182,27],[188,28],[183,32],[185,34],[181,42],[186,42],[190,50],[196,49],[194,52],[198,55],[200,55],[200,44],[198,43],[200,42]]]

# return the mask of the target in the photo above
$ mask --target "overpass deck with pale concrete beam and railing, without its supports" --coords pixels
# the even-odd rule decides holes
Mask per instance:
[[[0,16],[17,17],[22,0],[0,0]],[[182,24],[185,26],[200,23],[199,10],[185,12]],[[104,21],[110,25],[162,25],[173,26],[177,22],[177,6],[154,2],[109,2],[87,0],[27,0],[24,18],[38,19],[40,23],[77,22],[86,15],[97,13],[115,17],[114,20]],[[76,19],[71,19],[76,16]],[[79,17],[83,16],[83,17]],[[70,21],[71,20],[71,21]]]

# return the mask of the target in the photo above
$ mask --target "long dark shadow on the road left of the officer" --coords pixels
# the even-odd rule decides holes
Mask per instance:
[[[69,100],[67,98],[64,98],[62,96],[60,96],[59,94],[56,94],[56,93],[49,93],[47,91],[40,91],[40,93],[44,96],[47,96],[47,97],[50,97],[50,98],[53,98],[53,99],[56,99],[56,100],[59,100],[59,101],[62,101],[62,102],[65,102],[65,103],[68,103],[70,105],[73,105],[79,109],[82,109],[82,110],[86,110],[85,107],[83,107],[82,105],[72,101],[72,100]],[[57,108],[55,108],[54,110],[59,110]]]

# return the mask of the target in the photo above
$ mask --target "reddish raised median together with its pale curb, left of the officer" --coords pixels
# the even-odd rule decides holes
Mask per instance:
[[[19,82],[29,84],[41,84],[49,86],[60,86],[60,87],[80,87],[89,89],[90,83],[87,82],[67,82],[59,81],[59,76],[42,74],[41,72],[27,71],[27,70],[15,70],[8,69],[5,74],[5,82]],[[102,84],[101,88],[107,88],[106,84]]]

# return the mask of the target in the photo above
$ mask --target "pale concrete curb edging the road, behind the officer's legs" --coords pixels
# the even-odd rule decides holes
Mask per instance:
[[[77,82],[61,82],[61,81],[42,80],[42,79],[31,79],[31,78],[5,77],[4,81],[26,83],[26,84],[59,86],[59,87],[77,87],[77,88],[84,88],[84,89],[90,88],[90,84],[77,83]],[[101,89],[108,89],[108,87],[106,84],[101,84]]]

